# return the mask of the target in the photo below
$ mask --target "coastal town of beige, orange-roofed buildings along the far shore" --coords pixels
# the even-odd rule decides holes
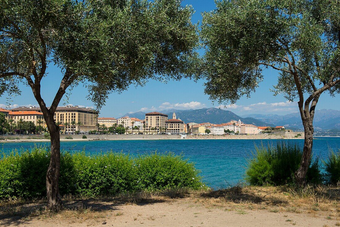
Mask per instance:
[[[10,110],[0,108],[0,113],[11,128],[14,125],[29,122],[38,127],[36,131],[45,131],[47,126],[43,113],[39,107],[23,106]],[[267,127],[244,124],[240,119],[234,119],[227,123],[211,124],[185,123],[173,113],[171,117],[160,112],[145,114],[144,119],[124,116],[120,118],[99,117],[96,110],[80,106],[67,105],[57,107],[54,120],[60,127],[61,134],[193,134],[193,135],[223,135],[223,134],[259,134],[269,130],[283,130],[284,126]],[[34,131],[34,130],[32,130]],[[13,133],[9,132],[9,133]],[[22,130],[20,130],[22,133]],[[19,134],[19,133],[17,133]]]

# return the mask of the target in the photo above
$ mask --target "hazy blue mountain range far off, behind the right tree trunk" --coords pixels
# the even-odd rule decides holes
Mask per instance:
[[[286,115],[247,114],[242,117],[253,117],[260,121],[277,126],[283,125],[288,128],[303,129],[300,113],[291,113]],[[313,125],[316,130],[340,129],[340,111],[326,109],[316,110]]]

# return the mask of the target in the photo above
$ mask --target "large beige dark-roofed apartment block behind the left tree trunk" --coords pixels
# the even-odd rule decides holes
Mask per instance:
[[[37,111],[41,113],[40,107],[18,107],[11,111]],[[73,134],[74,131],[85,133],[98,130],[98,113],[91,108],[81,108],[70,105],[57,107],[54,113],[54,120],[55,122],[59,121],[61,125],[64,123],[71,124],[72,121],[75,121],[75,125],[68,125],[64,127],[64,130],[61,130],[61,132],[65,134]],[[78,123],[80,123],[80,125]]]

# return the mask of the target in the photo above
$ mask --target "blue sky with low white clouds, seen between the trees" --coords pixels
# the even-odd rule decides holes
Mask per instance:
[[[184,4],[191,4],[196,11],[192,21],[197,23],[201,21],[201,12],[210,11],[215,8],[214,0],[185,0]],[[45,102],[50,105],[57,91],[57,86],[62,78],[61,71],[57,67],[50,65],[48,67],[48,76],[42,81],[42,96]],[[264,80],[260,83],[256,93],[250,98],[241,98],[234,106],[227,107],[236,114],[287,114],[297,112],[297,103],[289,103],[282,96],[273,96],[270,88],[277,82],[277,71],[268,69],[264,72]],[[200,80],[195,83],[192,80],[183,79],[181,81],[170,81],[161,83],[150,81],[144,87],[131,86],[122,94],[113,93],[109,96],[106,106],[101,109],[100,116],[120,117],[125,113],[137,111],[163,111],[167,109],[200,109],[209,107],[218,107],[217,103],[213,104],[209,96],[204,94],[204,81]],[[12,107],[34,105],[37,102],[29,87],[20,86],[22,95],[11,98]],[[83,86],[75,88],[69,99],[69,104],[84,107],[94,106],[91,101],[87,100],[87,90]],[[0,97],[0,107],[6,106],[8,96]],[[62,100],[60,106],[64,101]],[[317,109],[335,109],[340,110],[340,95],[333,98],[327,93],[321,95]]]

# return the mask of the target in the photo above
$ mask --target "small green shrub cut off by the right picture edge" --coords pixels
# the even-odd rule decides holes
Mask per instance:
[[[340,149],[334,152],[329,149],[328,160],[323,161],[327,183],[336,184],[340,181]]]

